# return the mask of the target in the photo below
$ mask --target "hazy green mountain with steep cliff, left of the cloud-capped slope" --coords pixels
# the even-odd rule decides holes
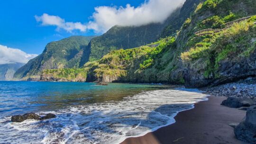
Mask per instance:
[[[14,74],[15,79],[39,76],[45,69],[77,68],[84,61],[82,56],[95,36],[71,36],[46,45],[42,54],[28,61]]]

